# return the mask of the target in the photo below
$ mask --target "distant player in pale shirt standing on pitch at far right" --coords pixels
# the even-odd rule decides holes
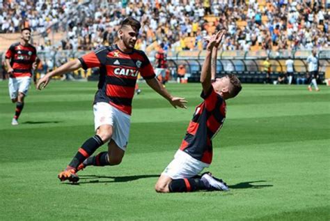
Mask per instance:
[[[313,49],[312,54],[308,56],[307,63],[309,72],[308,91],[312,91],[312,85],[314,86],[315,91],[320,91],[316,82],[317,78],[319,77],[319,59],[315,49]]]

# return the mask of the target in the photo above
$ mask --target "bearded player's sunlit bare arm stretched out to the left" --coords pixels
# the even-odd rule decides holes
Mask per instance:
[[[45,87],[49,83],[49,80],[51,79],[51,77],[56,76],[56,75],[64,75],[66,73],[70,73],[79,68],[81,68],[81,62],[78,59],[69,61],[69,62],[63,64],[63,66],[56,68],[52,72],[47,73],[47,75],[45,75],[44,77],[39,79],[38,84],[37,84],[37,89],[38,90],[45,89]]]

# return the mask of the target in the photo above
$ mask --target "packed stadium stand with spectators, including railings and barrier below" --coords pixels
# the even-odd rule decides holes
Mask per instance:
[[[45,63],[51,59],[56,66],[63,60],[61,51],[74,58],[80,50],[112,43],[121,20],[134,16],[142,23],[136,48],[152,58],[159,44],[164,43],[173,70],[180,64],[187,65],[191,81],[200,71],[203,37],[222,28],[228,30],[228,36],[223,44],[220,58],[225,61],[219,61],[219,74],[235,72],[242,75],[243,82],[262,82],[260,63],[269,56],[275,79],[285,71],[285,59],[293,54],[294,67],[302,75],[306,72],[304,59],[311,49],[317,48],[324,73],[330,77],[330,10],[325,1],[214,0],[211,13],[204,8],[207,2],[1,1],[0,52],[18,38],[20,29],[29,26],[33,29],[33,44]]]

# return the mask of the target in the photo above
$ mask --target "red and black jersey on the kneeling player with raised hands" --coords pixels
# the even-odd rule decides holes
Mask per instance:
[[[217,135],[226,118],[226,102],[211,87],[204,101],[195,109],[180,150],[206,164],[212,162],[212,139]]]

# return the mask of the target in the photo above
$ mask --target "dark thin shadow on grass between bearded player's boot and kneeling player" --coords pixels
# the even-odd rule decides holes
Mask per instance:
[[[124,183],[136,181],[140,178],[159,177],[158,175],[135,175],[135,176],[97,176],[97,175],[80,175],[78,183],[65,183],[71,185],[79,185],[86,183]]]

